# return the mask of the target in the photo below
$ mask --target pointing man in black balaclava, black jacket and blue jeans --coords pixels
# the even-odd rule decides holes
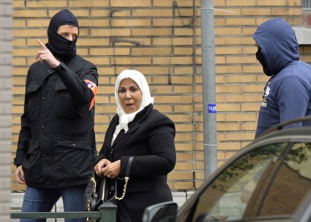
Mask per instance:
[[[77,18],[62,10],[50,21],[48,43],[37,40],[42,49],[36,53],[39,61],[27,74],[14,159],[17,182],[27,185],[22,212],[50,212],[60,197],[65,212],[82,211],[96,156],[98,73],[93,64],[76,54],[78,35]]]

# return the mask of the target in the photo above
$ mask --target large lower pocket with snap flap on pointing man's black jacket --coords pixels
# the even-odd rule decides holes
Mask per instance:
[[[54,153],[55,180],[59,183],[86,180],[93,170],[94,150],[88,140],[57,137],[58,147]]]

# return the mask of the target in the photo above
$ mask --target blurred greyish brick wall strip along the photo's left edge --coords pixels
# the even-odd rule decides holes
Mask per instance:
[[[9,220],[11,102],[12,102],[12,1],[0,2],[0,222]]]

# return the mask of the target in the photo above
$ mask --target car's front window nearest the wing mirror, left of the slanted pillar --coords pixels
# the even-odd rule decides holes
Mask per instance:
[[[287,143],[245,153],[223,171],[199,196],[179,222],[233,221],[243,218],[252,193],[265,171],[274,170]],[[268,179],[268,178],[266,178]]]

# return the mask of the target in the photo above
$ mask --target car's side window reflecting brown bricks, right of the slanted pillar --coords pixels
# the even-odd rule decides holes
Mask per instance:
[[[257,216],[291,215],[311,188],[311,144],[296,143],[275,172],[268,189],[252,199],[258,201]],[[247,215],[247,210],[245,216]],[[250,216],[253,216],[251,213]]]

